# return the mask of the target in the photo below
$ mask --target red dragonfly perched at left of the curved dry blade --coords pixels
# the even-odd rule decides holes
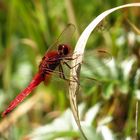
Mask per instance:
[[[67,34],[74,33],[75,27],[72,24],[68,24],[67,27],[60,34],[58,40],[53,45],[53,47],[57,46],[57,50],[52,50],[53,47],[50,47],[46,52],[45,56],[42,58],[42,61],[39,65],[39,70],[37,74],[33,77],[30,84],[18,94],[18,96],[10,103],[8,108],[2,113],[2,117],[6,116],[9,112],[11,112],[19,103],[21,103],[32,91],[35,87],[37,87],[42,81],[48,82],[52,73],[59,67],[59,75],[61,78],[68,80],[65,78],[62,68],[63,64],[69,65],[65,62],[66,60],[72,60],[70,56],[70,46],[66,43],[62,43],[61,39]],[[61,44],[58,44],[61,42]],[[56,45],[57,44],[57,45]]]

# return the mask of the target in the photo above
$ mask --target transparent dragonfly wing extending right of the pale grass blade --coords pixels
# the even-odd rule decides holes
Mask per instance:
[[[111,61],[112,55],[105,50],[96,50],[85,53],[81,74],[87,77],[98,77],[110,73],[107,64]]]

